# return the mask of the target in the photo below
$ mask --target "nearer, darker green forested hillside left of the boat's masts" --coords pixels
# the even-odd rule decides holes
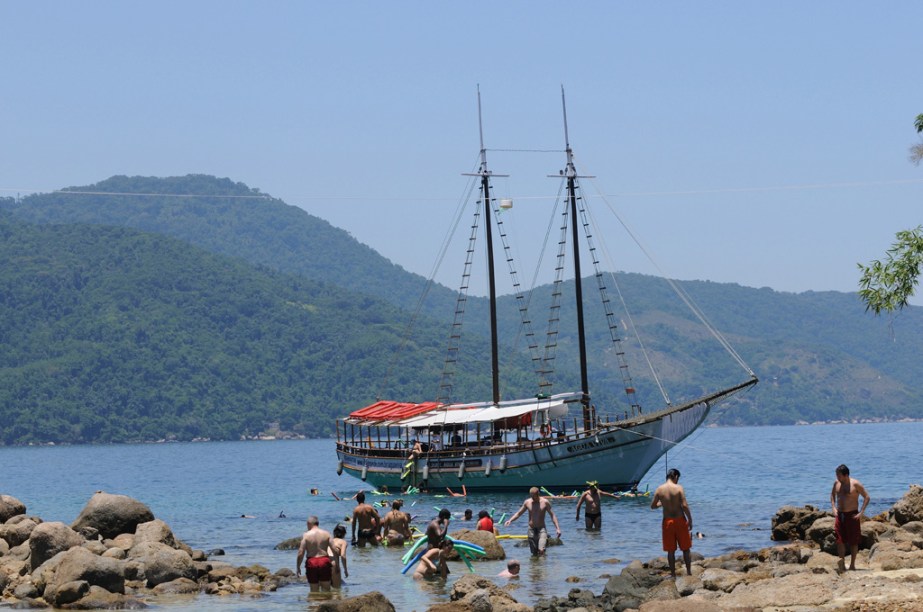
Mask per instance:
[[[0,261],[2,444],[328,436],[378,394],[437,394],[442,326],[422,322],[399,351],[405,313],[371,296],[156,234],[5,213]],[[504,367],[511,394],[534,393]]]

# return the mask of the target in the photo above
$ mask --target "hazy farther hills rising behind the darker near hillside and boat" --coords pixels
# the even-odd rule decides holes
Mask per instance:
[[[248,274],[266,276],[283,284],[323,287],[327,293],[340,292],[358,304],[368,304],[369,309],[374,305],[376,310],[390,312],[393,316],[388,315],[386,337],[373,339],[377,344],[365,347],[369,352],[377,347],[393,349],[410,318],[406,311],[398,308],[414,308],[425,286],[424,279],[391,264],[346,232],[227,179],[201,175],[168,179],[113,177],[72,190],[93,193],[42,194],[21,201],[6,199],[0,201],[0,209],[7,211],[11,218],[37,224],[123,226],[171,236],[199,249],[237,258],[238,263],[234,265],[247,270]],[[100,192],[106,195],[95,195]],[[211,197],[183,197],[183,194]],[[83,230],[77,233],[80,231]],[[195,252],[196,257],[204,257],[201,252]],[[216,261],[231,265],[223,258]],[[662,376],[670,400],[676,403],[701,394],[706,390],[703,381],[733,383],[745,378],[743,371],[703,331],[662,279],[638,274],[619,273],[616,276],[620,292],[631,304],[634,325]],[[283,278],[288,280],[281,281]],[[227,281],[232,286],[237,282]],[[592,281],[586,284],[584,291],[588,298],[594,286]],[[866,314],[856,294],[852,293],[790,294],[705,281],[684,282],[682,286],[761,379],[755,389],[723,405],[715,414],[717,422],[784,424],[923,418],[923,392],[918,382],[923,377],[923,361],[915,351],[923,340],[921,309],[910,308],[903,312],[894,321],[892,333],[889,321]],[[572,283],[566,283],[565,294],[572,291]],[[533,298],[530,314],[536,332],[544,329],[542,310],[547,294],[547,287],[538,288]],[[100,304],[103,300],[100,297]],[[390,305],[383,304],[383,300]],[[506,297],[500,301],[503,340],[523,349],[523,341],[518,337],[519,315],[514,300]],[[433,386],[441,371],[444,338],[448,333],[445,321],[453,310],[454,292],[445,287],[433,287],[424,313],[433,320],[441,319],[442,324],[428,322],[417,329],[415,338],[428,339],[427,342],[419,341],[425,345],[425,358],[420,362],[425,366],[417,367],[414,362],[395,365],[392,378],[397,376],[407,385],[406,389],[396,391],[419,394],[426,390],[424,398],[435,394]],[[463,340],[474,345],[475,356],[469,359],[468,365],[480,366],[480,373],[462,371],[459,374],[462,377],[461,384],[456,385],[459,397],[455,399],[474,400],[488,396],[489,381],[483,369],[487,359],[483,340],[487,327],[485,312],[485,300],[469,299]],[[349,309],[342,309],[337,315],[343,320],[331,320],[324,325],[338,329],[348,327],[350,321],[363,320],[363,313]],[[565,299],[561,318],[570,320],[572,316],[572,302]],[[620,391],[622,381],[600,307],[590,305],[587,322],[594,400],[601,406],[615,406],[619,411],[618,402],[624,397]],[[38,337],[32,339],[42,341]],[[625,345],[629,356],[638,357],[634,341],[629,338]],[[421,358],[423,355],[422,352],[411,353]],[[577,388],[573,367],[575,355],[574,338],[562,325],[557,346],[555,391]],[[512,373],[516,384],[505,389],[505,394],[534,391],[534,380],[525,363],[524,358],[517,361]],[[333,368],[328,362],[324,365]],[[352,368],[355,364],[350,360],[338,366]],[[267,372],[279,369],[278,364],[273,363],[260,367]],[[381,370],[379,367],[369,372],[381,373]],[[301,375],[306,371],[313,370],[302,370]],[[351,372],[342,375],[321,372],[322,381],[346,382],[334,388],[326,388],[326,383],[312,383],[311,393],[299,397],[304,411],[323,411],[323,402],[314,399],[319,396],[336,397],[340,401],[369,397],[361,393],[369,388],[367,378],[359,380]],[[657,406],[661,400],[650,375],[634,369],[631,373],[643,404]],[[358,385],[359,389],[350,385]],[[708,388],[713,389],[714,385]],[[312,401],[308,401],[308,397]],[[239,405],[247,402],[251,403],[250,410],[262,409],[259,400],[254,402],[252,397]],[[319,414],[339,412],[337,406]],[[258,425],[259,421],[260,418],[254,417],[253,422],[239,431],[265,428],[265,425]],[[285,427],[294,428],[295,424],[297,421],[285,421]],[[319,425],[311,431],[322,430],[323,426]]]

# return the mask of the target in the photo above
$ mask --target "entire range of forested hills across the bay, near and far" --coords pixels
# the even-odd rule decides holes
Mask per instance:
[[[430,288],[423,312],[443,324],[421,318],[414,348],[402,353],[410,360],[393,366],[386,357],[426,281],[343,230],[202,175],[113,177],[71,191],[92,193],[0,200],[0,411],[16,415],[15,426],[0,427],[3,442],[235,438],[274,427],[328,435],[333,416],[374,400],[392,367],[386,395],[434,396],[454,291]],[[721,374],[728,357],[673,306],[662,279],[616,276],[671,400],[696,396],[702,380],[744,379]],[[920,309],[902,313],[892,336],[855,294],[682,286],[761,378],[722,405],[719,423],[923,417]],[[465,341],[484,363],[486,300],[469,302]],[[572,309],[565,299],[562,320]],[[601,312],[591,305],[587,321],[591,391],[602,405],[621,401],[622,381]],[[501,299],[504,342],[523,349],[518,317],[514,298]],[[557,354],[555,390],[577,388],[563,327]],[[504,371],[515,384],[505,392],[533,393],[528,359],[510,359]],[[639,389],[654,387],[633,375]],[[467,393],[457,399],[489,396],[489,373],[459,376]]]

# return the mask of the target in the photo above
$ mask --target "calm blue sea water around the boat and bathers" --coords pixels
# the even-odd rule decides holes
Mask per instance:
[[[826,508],[833,471],[840,463],[850,467],[872,496],[868,514],[888,508],[911,483],[923,481],[921,438],[923,423],[702,429],[654,466],[641,489],[653,490],[668,467],[679,468],[694,529],[706,536],[694,541],[693,550],[706,556],[755,550],[772,544],[770,519],[780,506]],[[273,571],[294,569],[295,552],[273,547],[299,535],[309,514],[318,515],[328,530],[351,514],[355,502],[338,502],[331,491],[352,495],[363,485],[336,475],[331,440],[0,447],[0,465],[0,493],[17,497],[29,514],[46,521],[70,523],[98,490],[129,495],[146,503],[193,548],[223,548],[226,556],[216,560],[259,563]],[[311,496],[312,487],[321,495]],[[369,495],[367,501],[380,499]],[[465,508],[475,516],[481,509],[495,509],[495,517],[509,515],[524,496],[472,494],[460,499],[430,494],[406,499],[405,510],[418,515],[420,526],[437,508],[451,509],[457,515],[451,530],[473,525],[460,518]],[[649,500],[603,498],[601,533],[587,533],[582,521],[575,521],[575,504],[553,501],[563,546],[549,548],[546,558],[532,560],[528,547],[501,540],[508,557],[523,561],[514,591],[519,601],[532,604],[541,597],[565,595],[574,586],[599,594],[606,575],[618,573],[632,559],[661,554],[659,511],[649,509]],[[287,518],[279,518],[283,511]],[[525,529],[526,519],[520,518],[501,531],[521,534]],[[425,610],[448,600],[447,586],[402,576],[401,553],[386,547],[350,548],[350,578],[334,597],[379,590],[400,611]],[[474,567],[494,579],[505,562]],[[467,571],[461,562],[451,570],[448,586]],[[568,576],[580,577],[580,584],[565,582]],[[151,603],[166,610],[290,610],[310,609],[315,601],[306,585],[297,585],[258,599],[198,596]]]

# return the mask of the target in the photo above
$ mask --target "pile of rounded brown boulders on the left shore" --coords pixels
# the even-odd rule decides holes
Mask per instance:
[[[212,551],[220,556],[221,551]],[[256,595],[295,581],[213,561],[177,539],[143,503],[99,492],[66,525],[0,495],[0,593],[16,608],[140,609],[166,594]]]

